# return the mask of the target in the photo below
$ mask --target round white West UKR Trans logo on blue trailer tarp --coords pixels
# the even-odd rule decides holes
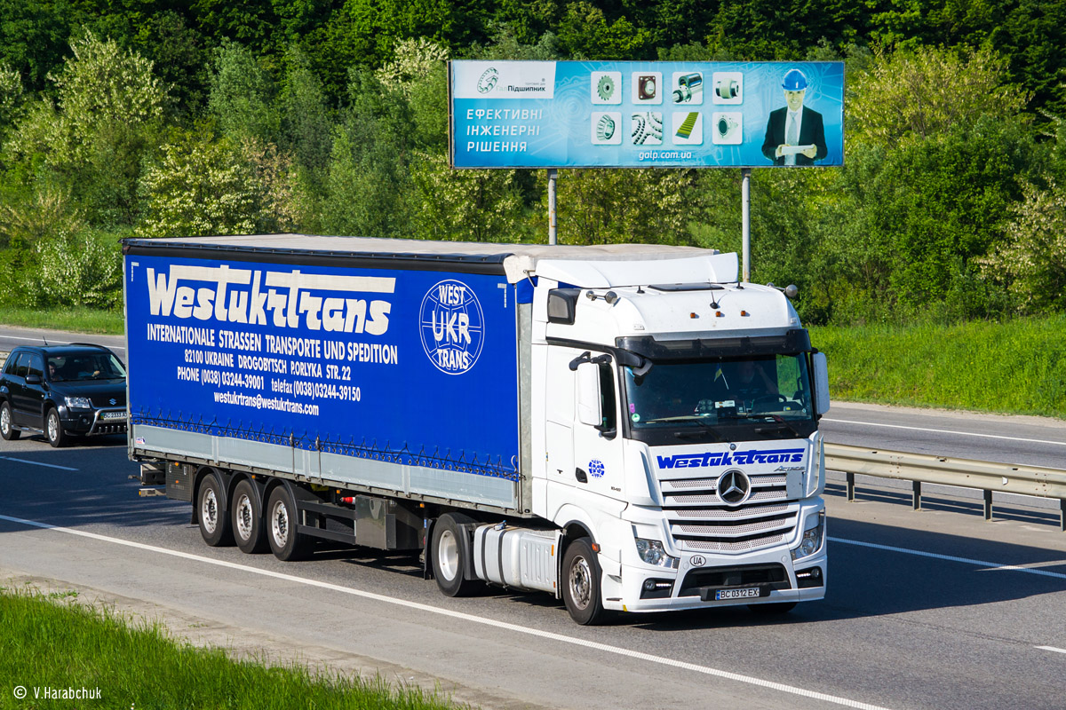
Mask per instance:
[[[473,288],[451,279],[430,288],[419,309],[419,334],[441,373],[462,375],[473,367],[485,344],[485,315]]]

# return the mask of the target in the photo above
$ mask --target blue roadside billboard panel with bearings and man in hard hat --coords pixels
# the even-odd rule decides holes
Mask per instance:
[[[842,62],[449,65],[456,168],[843,165]]]

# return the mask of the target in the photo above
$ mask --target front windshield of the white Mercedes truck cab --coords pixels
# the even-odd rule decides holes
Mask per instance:
[[[626,368],[634,439],[807,436],[813,404],[806,353],[658,361],[643,377]],[[662,440],[662,441],[655,441]]]

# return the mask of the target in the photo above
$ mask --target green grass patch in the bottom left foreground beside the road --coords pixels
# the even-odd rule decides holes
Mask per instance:
[[[174,641],[159,626],[114,612],[58,604],[54,594],[0,588],[0,708],[108,710],[455,710],[419,689],[379,678],[313,674],[301,665],[230,660]],[[313,661],[313,659],[311,659]],[[16,686],[28,689],[14,697]],[[100,689],[99,699],[34,699],[34,688]]]

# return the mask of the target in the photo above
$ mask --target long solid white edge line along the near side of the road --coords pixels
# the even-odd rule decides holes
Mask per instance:
[[[560,643],[568,643],[575,646],[594,648],[596,650],[600,650],[605,654],[626,656],[628,658],[634,658],[649,663],[669,665],[676,668],[692,671],[693,673],[699,673],[707,676],[715,676],[717,678],[736,680],[738,682],[747,683],[749,686],[758,686],[759,688],[769,688],[771,690],[780,691],[782,693],[790,693],[792,695],[798,695],[801,697],[808,697],[814,700],[822,700],[825,703],[833,703],[835,705],[842,705],[846,708],[857,708],[858,710],[886,710],[886,708],[883,708],[881,706],[870,705],[868,703],[860,703],[858,700],[851,700],[849,698],[838,697],[836,695],[827,695],[826,693],[819,693],[818,691],[810,691],[804,688],[796,688],[795,686],[787,686],[785,683],[774,682],[773,680],[763,680],[762,678],[745,676],[739,673],[731,673],[729,671],[720,671],[717,668],[712,668],[706,665],[697,665],[695,663],[678,661],[676,659],[665,658],[662,656],[652,656],[651,654],[645,654],[629,648],[621,648],[619,646],[609,646],[608,644],[597,643],[595,641],[587,641],[585,639],[568,637],[562,633],[553,633],[552,631],[543,631],[540,629],[534,629],[528,626],[519,626],[517,624],[508,624],[507,622],[500,622],[495,618],[474,616],[473,614],[467,614],[461,611],[452,611],[450,609],[441,609],[440,607],[433,607],[427,604],[420,604],[418,601],[407,601],[406,599],[397,599],[390,596],[384,596],[382,594],[374,594],[373,592],[365,592],[362,590],[353,589],[351,587],[341,587],[340,584],[333,584],[330,582],[319,581],[317,579],[306,579],[304,577],[295,577],[293,575],[287,575],[280,572],[273,572],[271,569],[259,569],[257,567],[249,567],[243,564],[237,564],[236,562],[227,562],[225,560],[213,560],[209,557],[200,557],[199,555],[192,555],[190,552],[180,552],[178,550],[167,549],[165,547],[145,545],[144,543],[136,543],[130,540],[123,540],[120,538],[109,538],[107,535],[97,534],[95,532],[85,532],[84,530],[74,530],[71,528],[64,528],[56,525],[49,525],[48,523],[37,523],[36,521],[27,521],[20,517],[0,515],[0,521],[7,521],[10,523],[17,523],[19,525],[26,525],[34,528],[42,528],[44,530],[53,530],[55,532],[65,532],[70,535],[78,535],[79,538],[88,538],[90,540],[98,540],[101,542],[113,543],[115,545],[124,545],[126,547],[133,547],[135,549],[147,550],[149,552],[158,552],[160,555],[171,555],[173,557],[181,558],[183,560],[193,560],[195,562],[204,562],[206,564],[213,564],[215,566],[226,567],[229,569],[239,569],[241,572],[247,572],[254,575],[262,575],[263,577],[273,577],[274,579],[294,582],[296,584],[318,587],[320,589],[330,590],[333,592],[351,594],[352,596],[362,597],[365,599],[372,599],[374,601],[381,601],[383,604],[391,604],[398,607],[417,609],[419,611],[424,611],[431,614],[450,616],[452,618],[457,618],[473,624],[483,624],[485,626],[491,626],[499,629],[505,629],[507,631],[514,631],[516,633],[524,633],[532,637],[538,637],[540,639],[547,639],[549,641],[558,641]]]

